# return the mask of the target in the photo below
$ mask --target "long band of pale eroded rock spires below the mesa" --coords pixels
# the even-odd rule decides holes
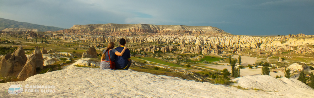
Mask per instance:
[[[127,33],[127,32],[124,32]],[[96,33],[97,34],[97,33]],[[105,34],[105,33],[99,33]],[[167,33],[170,34],[170,33]],[[126,36],[126,35],[107,35],[105,36],[85,36],[89,33],[73,33],[62,35],[51,35],[52,39],[63,40],[83,40],[85,42],[118,42],[119,39],[124,38],[130,43],[158,43],[158,44],[181,44],[179,49],[182,53],[196,53],[204,51],[205,54],[220,54],[223,51],[230,51],[232,53],[240,53],[245,49],[251,49],[252,52],[257,54],[279,54],[283,51],[292,51],[296,54],[311,54],[314,53],[313,37],[310,35],[297,34],[287,36],[275,36],[275,37],[253,37],[253,36],[238,36],[238,35],[167,35],[167,34],[148,34],[146,36]],[[297,38],[295,38],[297,37]],[[300,38],[304,37],[304,38]],[[185,46],[186,44],[192,46]],[[103,44],[95,44],[96,46]],[[198,45],[199,47],[197,47]],[[171,45],[169,45],[171,46]],[[83,48],[82,46],[81,48]],[[296,47],[296,48],[295,48]],[[146,47],[144,47],[146,48]],[[162,47],[158,47],[161,49]],[[183,50],[184,49],[184,50]],[[192,50],[191,50],[192,49]],[[151,48],[140,49],[149,52],[153,52]],[[155,49],[154,49],[155,50]],[[223,50],[223,51],[222,51]],[[203,53],[203,54],[204,54]]]

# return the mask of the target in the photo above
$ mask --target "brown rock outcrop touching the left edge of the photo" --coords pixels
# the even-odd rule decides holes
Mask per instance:
[[[1,76],[15,76],[23,69],[27,57],[24,49],[20,46],[12,54],[6,54],[0,61],[0,75]]]

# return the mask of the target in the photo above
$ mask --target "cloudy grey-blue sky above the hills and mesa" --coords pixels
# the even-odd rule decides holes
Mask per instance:
[[[60,28],[142,23],[314,35],[314,0],[1,0],[0,18]]]

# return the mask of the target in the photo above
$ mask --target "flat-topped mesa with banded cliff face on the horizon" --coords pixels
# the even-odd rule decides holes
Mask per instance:
[[[211,26],[183,26],[183,25],[151,25],[151,24],[88,24],[74,25],[72,28],[60,30],[61,33],[79,32],[148,32],[148,33],[187,33],[187,34],[229,34],[224,30]]]

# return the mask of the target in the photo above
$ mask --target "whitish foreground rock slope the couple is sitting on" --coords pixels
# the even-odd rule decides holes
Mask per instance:
[[[5,93],[12,84],[54,85],[55,93]],[[271,86],[271,85],[269,85]],[[25,87],[23,87],[25,89]],[[41,90],[41,89],[40,89]],[[39,90],[39,91],[40,91]],[[281,95],[280,95],[281,94]],[[182,80],[164,75],[132,70],[101,70],[75,67],[29,77],[25,81],[0,83],[0,97],[132,97],[132,98],[310,98],[289,92],[240,90],[235,87],[213,85],[208,82]]]

